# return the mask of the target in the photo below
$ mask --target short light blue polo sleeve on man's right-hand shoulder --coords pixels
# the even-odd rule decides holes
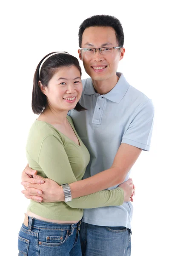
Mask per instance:
[[[123,134],[121,143],[126,143],[145,151],[149,151],[153,121],[154,106],[149,99],[136,109],[132,122],[130,122],[129,127]]]

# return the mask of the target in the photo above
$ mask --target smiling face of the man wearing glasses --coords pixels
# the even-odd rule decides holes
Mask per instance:
[[[112,27],[89,27],[82,36],[82,48],[117,47],[115,30]],[[94,54],[86,54],[78,50],[86,73],[95,81],[103,81],[116,76],[119,61],[123,58],[125,49],[113,49],[112,53],[101,54],[97,50]]]

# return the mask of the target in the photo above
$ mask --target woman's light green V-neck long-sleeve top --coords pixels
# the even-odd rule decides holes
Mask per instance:
[[[26,157],[29,166],[38,175],[50,178],[59,185],[81,180],[90,155],[75,131],[70,116],[67,119],[80,145],[70,140],[53,125],[35,120],[27,140]],[[97,208],[123,204],[123,189],[103,190],[94,194],[74,198],[71,202],[37,203],[31,200],[28,211],[43,218],[60,221],[78,221],[83,208]]]

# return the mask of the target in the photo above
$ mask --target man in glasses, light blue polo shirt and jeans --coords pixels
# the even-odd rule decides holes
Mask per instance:
[[[84,186],[72,183],[73,197],[85,195],[84,191],[88,194],[96,192],[97,180],[102,180],[100,189],[114,189],[128,180],[129,171],[141,150],[149,151],[150,148],[154,115],[152,102],[129,85],[123,74],[116,72],[125,53],[123,42],[123,28],[115,17],[96,15],[80,25],[78,53],[91,78],[83,80],[80,99],[87,111],[72,110],[70,116],[91,155],[84,178],[99,175]],[[31,175],[32,170],[26,168],[23,181],[43,183],[28,178],[26,173]],[[43,185],[29,185],[29,190],[23,193],[34,200],[44,201],[50,193],[61,198],[63,192],[54,189],[52,184],[46,190]],[[37,197],[40,190],[43,191],[41,198]],[[80,233],[83,255],[129,256],[131,218],[130,202],[119,207],[85,209]]]

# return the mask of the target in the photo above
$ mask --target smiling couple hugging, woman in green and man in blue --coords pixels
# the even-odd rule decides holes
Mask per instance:
[[[18,237],[19,256],[130,256],[129,173],[149,151],[152,101],[117,72],[124,57],[120,21],[84,20],[79,61],[68,52],[42,58],[34,73],[23,194],[31,199]]]

